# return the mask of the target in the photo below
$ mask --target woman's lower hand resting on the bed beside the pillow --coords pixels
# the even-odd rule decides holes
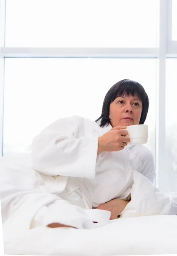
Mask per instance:
[[[96,209],[107,210],[111,212],[110,220],[118,218],[118,215],[124,210],[129,201],[122,199],[113,199],[107,203],[100,204]]]

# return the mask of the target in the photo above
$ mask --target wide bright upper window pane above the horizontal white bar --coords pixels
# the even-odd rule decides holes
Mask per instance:
[[[159,0],[6,0],[6,47],[156,47]]]

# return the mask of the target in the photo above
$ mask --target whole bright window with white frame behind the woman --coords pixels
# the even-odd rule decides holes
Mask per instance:
[[[30,151],[60,117],[95,120],[107,90],[134,79],[150,99],[156,186],[176,191],[177,0],[1,0],[0,11],[0,153]]]

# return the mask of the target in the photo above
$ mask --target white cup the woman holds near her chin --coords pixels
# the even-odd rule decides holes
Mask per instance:
[[[129,125],[126,127],[129,133],[130,144],[142,145],[148,141],[148,125]]]

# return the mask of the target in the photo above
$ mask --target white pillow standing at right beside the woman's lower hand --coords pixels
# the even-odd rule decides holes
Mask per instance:
[[[160,192],[148,178],[136,170],[133,180],[132,199],[121,212],[122,218],[169,214],[171,201],[167,195]]]

